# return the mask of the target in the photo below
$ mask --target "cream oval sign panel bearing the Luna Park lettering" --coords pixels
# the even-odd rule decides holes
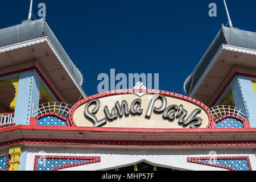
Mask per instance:
[[[206,128],[209,116],[193,102],[163,94],[114,94],[90,98],[72,113],[76,126],[144,129]]]

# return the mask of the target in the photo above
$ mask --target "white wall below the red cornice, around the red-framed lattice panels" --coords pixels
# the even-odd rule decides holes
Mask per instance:
[[[39,151],[44,151],[40,152]],[[211,156],[213,150],[113,150],[88,148],[28,148],[26,170],[34,169],[35,155],[100,156],[101,162],[61,170],[106,170],[130,166],[141,162],[181,170],[227,170],[202,164],[188,163],[187,157]],[[254,150],[215,150],[214,156],[249,156],[251,167],[256,170]]]

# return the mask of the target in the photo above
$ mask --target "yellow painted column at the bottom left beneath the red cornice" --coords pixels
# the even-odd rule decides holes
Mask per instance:
[[[10,171],[18,171],[19,170],[19,157],[22,154],[22,146],[12,146],[9,147],[9,155],[10,159]]]

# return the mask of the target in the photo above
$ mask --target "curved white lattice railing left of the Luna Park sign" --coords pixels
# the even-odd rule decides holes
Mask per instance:
[[[71,107],[71,105],[64,102],[47,102],[35,106],[32,110],[32,117],[36,117],[44,113],[58,113],[67,116]]]

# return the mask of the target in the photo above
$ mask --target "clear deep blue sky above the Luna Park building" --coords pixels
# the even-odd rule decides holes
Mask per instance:
[[[222,0],[34,0],[46,3],[47,23],[97,93],[97,76],[159,73],[159,89],[184,94],[183,83],[228,19]],[[208,16],[216,3],[217,17]],[[226,0],[233,26],[256,32],[256,1]],[[27,19],[30,0],[1,1],[0,28]]]

